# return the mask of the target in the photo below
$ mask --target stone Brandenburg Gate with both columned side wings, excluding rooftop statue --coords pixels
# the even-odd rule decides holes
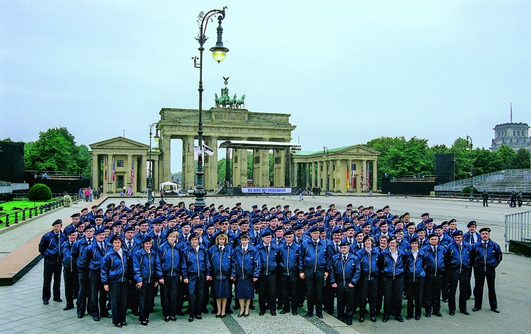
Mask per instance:
[[[124,187],[131,187],[136,194],[143,193],[147,188],[147,174],[152,170],[153,187],[157,190],[161,182],[171,178],[172,143],[180,144],[182,189],[194,187],[195,152],[199,149],[196,143],[198,110],[162,108],[159,115],[157,129],[160,139],[154,144],[157,147],[152,147],[151,150],[149,145],[124,137],[89,145],[93,187],[103,185],[104,193],[120,192]],[[324,190],[326,175],[332,191],[376,189],[371,186],[375,186],[377,180],[379,152],[363,145],[330,149],[326,157],[323,157],[323,152],[297,152],[300,145],[290,143],[291,133],[296,129],[289,122],[290,116],[250,112],[247,109],[203,110],[203,145],[208,147],[205,151],[207,154],[203,154],[205,189],[213,191],[223,182],[231,187],[252,184],[254,187],[320,187]],[[224,158],[218,157],[220,147],[226,150],[227,161],[230,161],[230,170],[226,172],[230,180],[220,180],[218,175],[218,159]],[[253,157],[252,178],[247,175],[247,157],[250,151]],[[372,173],[370,176],[367,174],[367,166]],[[270,174],[272,177],[269,177]],[[368,180],[372,180],[372,184]]]

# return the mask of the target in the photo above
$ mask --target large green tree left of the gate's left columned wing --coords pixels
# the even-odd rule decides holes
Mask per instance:
[[[74,136],[65,127],[40,132],[38,140],[24,145],[26,170],[64,170],[90,175],[90,154],[85,145],[75,145]]]

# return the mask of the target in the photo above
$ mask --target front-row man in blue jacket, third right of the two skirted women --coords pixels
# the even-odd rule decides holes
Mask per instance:
[[[312,226],[308,229],[310,238],[300,245],[299,275],[305,280],[308,312],[305,317],[314,315],[314,307],[317,317],[323,319],[323,285],[326,273],[326,242],[319,238],[320,229]]]

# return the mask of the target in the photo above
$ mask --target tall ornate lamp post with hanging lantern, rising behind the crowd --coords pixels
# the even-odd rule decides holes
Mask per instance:
[[[201,12],[198,15],[199,35],[196,37],[196,40],[199,43],[199,58],[192,57],[192,59],[194,59],[194,66],[196,68],[199,68],[199,124],[197,131],[199,152],[197,154],[197,184],[196,188],[194,189],[194,196],[196,196],[196,208],[205,207],[205,196],[207,194],[203,187],[203,177],[205,175],[205,173],[203,173],[203,51],[205,50],[205,48],[203,48],[203,45],[208,39],[207,36],[205,36],[205,30],[207,28],[208,21],[212,21],[212,17],[214,15],[219,15],[217,17],[218,26],[216,46],[210,48],[210,52],[212,52],[212,57],[214,57],[214,60],[219,63],[219,61],[225,59],[226,52],[228,52],[228,49],[223,46],[223,41],[221,41],[221,37],[223,35],[221,21],[223,21],[223,19],[225,18],[225,9],[226,7],[224,7],[222,10],[213,9],[206,14],[204,12]]]

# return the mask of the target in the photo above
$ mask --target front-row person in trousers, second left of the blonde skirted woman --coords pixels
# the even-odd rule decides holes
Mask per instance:
[[[161,284],[161,305],[164,321],[177,321],[177,289],[182,280],[181,259],[182,247],[177,242],[179,231],[170,228],[166,233],[166,242],[159,246],[157,261],[159,261],[163,284]]]

